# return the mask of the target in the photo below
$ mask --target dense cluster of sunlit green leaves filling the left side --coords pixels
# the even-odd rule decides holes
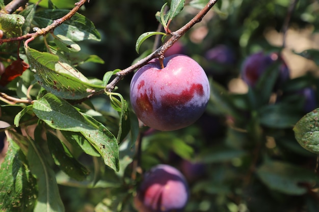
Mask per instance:
[[[51,1],[46,6],[30,4],[18,14],[1,15],[5,38],[25,35],[31,27],[41,30],[69,12]],[[100,41],[100,34],[88,18],[75,13],[54,33],[36,38],[29,46],[12,42],[0,47],[5,66],[22,60],[30,65],[20,77],[12,77],[11,71],[6,72],[9,78],[1,78],[7,79],[3,92],[21,100],[14,104],[2,99],[10,103],[1,106],[1,120],[10,124],[6,129],[9,149],[1,165],[2,211],[64,211],[58,183],[105,187],[96,186],[105,170],[119,181],[132,160],[132,153],[126,152],[131,151],[139,128],[123,97],[108,93],[95,98],[96,102],[86,100],[103,94],[116,71],[107,72],[103,80],[88,79],[79,72],[80,64],[103,63],[98,56],[81,51],[76,42],[84,40]],[[79,161],[83,155],[91,157],[91,165]]]

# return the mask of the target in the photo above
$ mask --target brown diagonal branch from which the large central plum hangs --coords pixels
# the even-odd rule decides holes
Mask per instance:
[[[108,92],[112,92],[115,88],[115,85],[127,74],[131,73],[132,71],[141,68],[145,64],[147,64],[151,59],[164,55],[165,51],[170,48],[182,35],[184,35],[192,26],[196,23],[200,22],[202,18],[206,15],[206,13],[216,4],[218,0],[209,0],[207,5],[187,24],[182,26],[175,32],[172,32],[172,37],[164,43],[161,47],[157,48],[154,52],[149,54],[148,56],[144,57],[143,59],[139,60],[136,64],[118,72],[116,77],[105,87],[105,90]]]

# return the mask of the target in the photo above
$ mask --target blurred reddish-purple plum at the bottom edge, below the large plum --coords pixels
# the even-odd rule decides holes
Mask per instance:
[[[134,204],[139,212],[181,212],[188,198],[189,187],[181,172],[159,164],[144,175]]]

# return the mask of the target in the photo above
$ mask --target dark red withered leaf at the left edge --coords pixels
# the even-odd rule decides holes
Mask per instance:
[[[22,73],[29,68],[29,65],[26,64],[22,59],[17,59],[10,64],[5,73],[0,78],[0,85],[5,86],[16,77],[21,76]]]

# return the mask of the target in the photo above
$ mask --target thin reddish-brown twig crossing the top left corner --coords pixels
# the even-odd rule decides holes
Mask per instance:
[[[51,31],[53,31],[55,28],[57,28],[59,25],[61,25],[62,23],[64,23],[68,19],[70,19],[87,1],[88,0],[80,0],[79,2],[75,3],[75,7],[68,14],[66,14],[62,18],[54,20],[53,23],[51,23],[47,27],[38,29],[38,31],[35,33],[29,33],[29,34],[26,34],[26,35],[23,35],[20,37],[16,37],[16,38],[0,39],[0,44],[5,43],[5,42],[22,41],[22,40],[26,40],[26,39],[33,40],[34,38],[36,38],[38,36],[46,35],[46,34],[50,33]]]

